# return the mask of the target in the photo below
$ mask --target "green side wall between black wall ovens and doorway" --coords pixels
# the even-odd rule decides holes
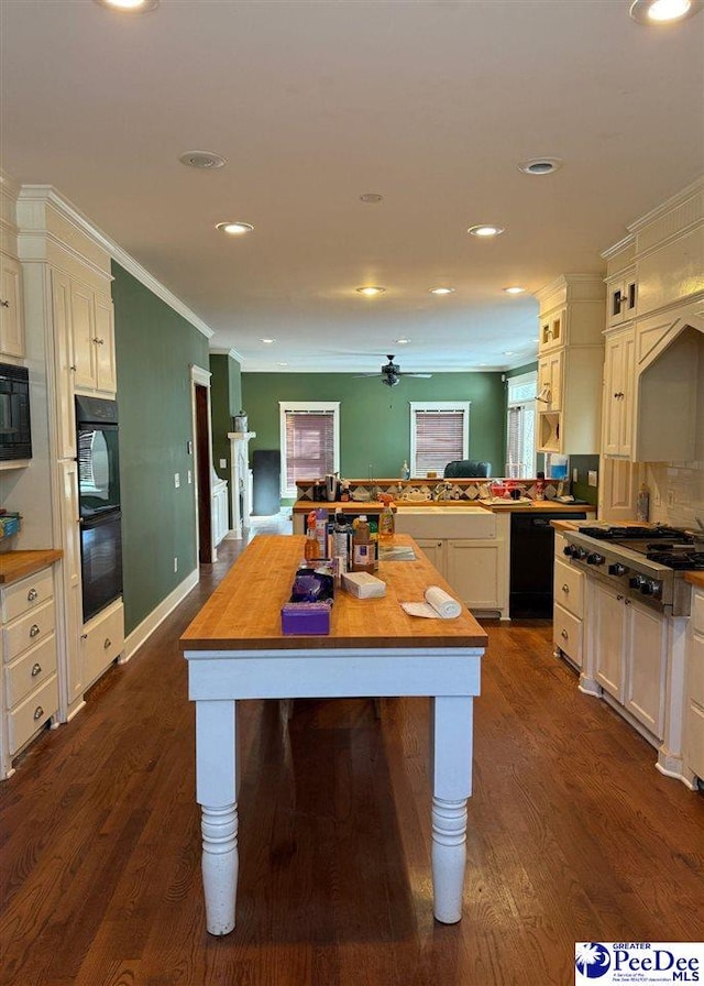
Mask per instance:
[[[190,368],[208,369],[208,340],[119,264],[112,275],[129,634],[197,568]]]

